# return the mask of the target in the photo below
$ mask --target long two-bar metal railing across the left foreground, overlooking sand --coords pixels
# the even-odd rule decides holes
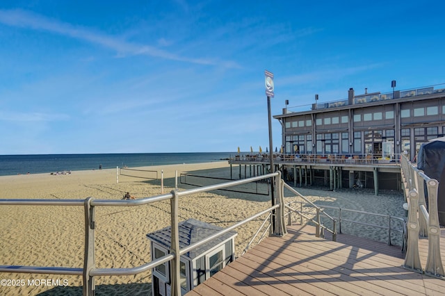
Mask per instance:
[[[203,240],[195,242],[182,249],[179,248],[179,198],[186,195],[191,195],[199,192],[207,192],[211,190],[218,190],[222,188],[228,188],[231,186],[237,186],[244,183],[250,183],[259,181],[261,179],[275,179],[275,190],[277,194],[278,202],[270,208],[267,208],[260,213],[256,213],[251,217],[242,220],[230,227],[222,229],[217,233],[214,233]],[[85,240],[84,240],[84,255],[83,255],[83,268],[67,268],[67,267],[40,267],[40,266],[17,266],[17,265],[0,265],[0,272],[17,272],[17,273],[38,273],[38,274],[71,274],[81,275],[83,277],[83,295],[95,294],[95,277],[97,276],[115,276],[115,275],[133,275],[140,272],[146,272],[155,268],[158,265],[171,261],[172,277],[171,287],[172,295],[181,295],[180,285],[180,270],[179,270],[179,256],[186,254],[196,247],[204,245],[206,242],[222,236],[224,233],[236,229],[241,225],[250,222],[261,215],[270,213],[276,210],[275,215],[271,215],[271,219],[274,219],[275,229],[273,229],[273,235],[283,236],[286,233],[286,226],[284,224],[284,197],[283,197],[283,183],[280,172],[273,174],[265,174],[263,176],[255,176],[249,179],[241,179],[237,181],[230,181],[226,183],[219,183],[211,186],[204,186],[200,188],[193,188],[191,190],[172,192],[164,195],[157,195],[155,197],[146,197],[136,200],[106,200],[106,199],[94,199],[88,197],[87,199],[66,199],[66,200],[48,200],[48,199],[0,199],[0,206],[4,205],[34,205],[34,206],[83,206],[85,214]],[[161,202],[164,200],[170,200],[170,217],[171,217],[171,229],[172,229],[172,242],[170,254],[157,258],[149,263],[134,267],[134,268],[95,268],[95,207],[97,206],[142,206],[146,204],[152,204],[154,202]]]

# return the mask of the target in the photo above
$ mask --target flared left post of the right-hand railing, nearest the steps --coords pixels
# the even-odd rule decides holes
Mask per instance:
[[[417,220],[417,211],[419,209],[419,195],[416,190],[408,193],[410,208],[408,211],[408,240],[405,263],[403,267],[409,268],[415,272],[423,273],[419,256],[419,222]]]

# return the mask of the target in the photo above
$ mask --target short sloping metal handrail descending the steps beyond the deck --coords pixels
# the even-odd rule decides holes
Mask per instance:
[[[292,202],[285,204],[285,207],[288,209],[287,224],[291,225],[291,222],[292,222],[291,215],[292,215],[292,213],[296,213],[296,214],[300,215],[300,217],[305,217],[307,220],[312,221],[315,224],[315,236],[317,238],[324,238],[325,237],[324,231],[326,230],[326,231],[329,231],[330,233],[332,233],[332,241],[335,242],[337,240],[337,226],[336,226],[337,220],[335,220],[333,217],[331,217],[330,215],[325,213],[319,206],[316,206],[316,204],[309,201],[309,199],[307,199],[304,195],[301,195],[300,192],[293,189],[291,186],[287,185],[286,183],[284,183],[284,188],[288,189],[293,194],[298,195],[298,197],[301,197],[303,200],[305,200],[305,202],[307,202],[308,204],[310,204],[312,207],[314,207],[316,209],[316,217],[314,220],[312,217],[309,217],[309,215],[306,215],[301,210],[298,211],[295,208],[292,208],[291,207]],[[323,214],[325,217],[327,217],[327,219],[329,219],[332,222],[332,229],[329,229],[323,225],[323,223],[321,222],[321,214]]]

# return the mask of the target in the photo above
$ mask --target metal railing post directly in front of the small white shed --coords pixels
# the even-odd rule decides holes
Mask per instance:
[[[179,262],[181,257],[179,256],[179,218],[178,218],[178,195],[177,190],[172,191],[172,199],[170,199],[170,215],[172,222],[172,242],[170,253],[175,254],[175,258],[171,261],[171,277],[172,277],[172,296],[181,296],[181,279]]]

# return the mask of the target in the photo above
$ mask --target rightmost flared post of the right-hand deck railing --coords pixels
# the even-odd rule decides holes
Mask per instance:
[[[442,258],[440,255],[440,228],[439,213],[437,212],[437,190],[439,182],[430,179],[426,183],[428,190],[428,257],[426,259],[425,273],[435,277],[445,277]]]

